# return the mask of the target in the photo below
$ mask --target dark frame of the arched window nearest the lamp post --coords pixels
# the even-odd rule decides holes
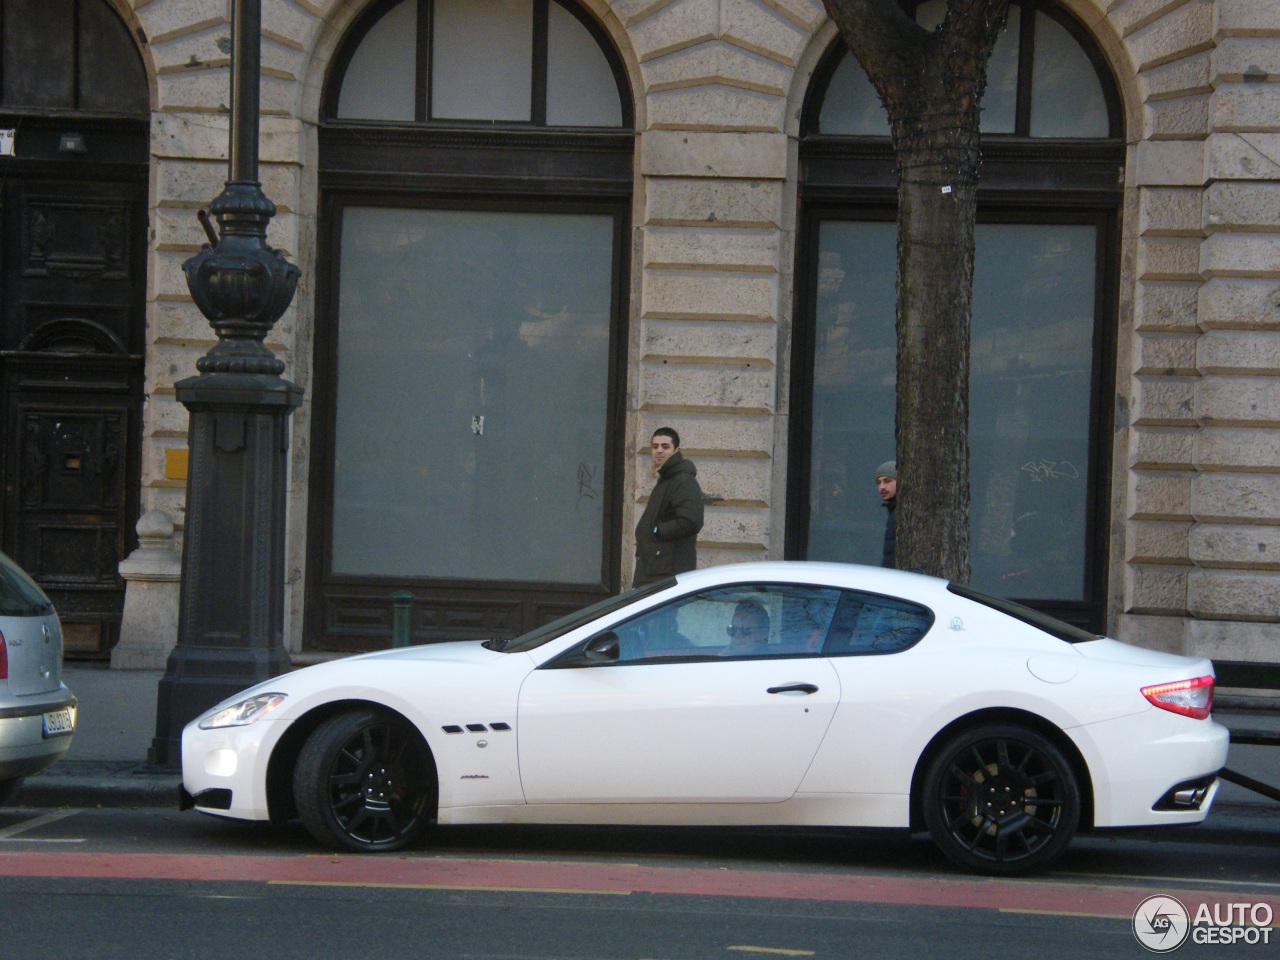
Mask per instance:
[[[621,585],[626,451],[626,321],[631,296],[635,182],[634,99],[622,61],[590,15],[563,3],[613,68],[621,127],[521,122],[356,120],[335,116],[356,47],[399,0],[378,0],[348,29],[321,95],[314,362],[307,492],[305,645],[371,650],[388,645],[393,591],[410,590],[410,641],[509,639],[617,593]],[[535,0],[544,13],[552,0]],[[420,6],[421,13],[421,6]],[[543,18],[545,22],[545,17]],[[545,31],[544,31],[545,35]],[[545,41],[545,36],[544,36]],[[419,70],[429,69],[419,46]],[[545,60],[545,58],[544,58]],[[544,70],[545,73],[545,70]],[[545,90],[545,82],[541,83]],[[425,91],[425,86],[420,86]],[[425,115],[425,106],[424,114]],[[545,114],[543,114],[545,116]],[[333,440],[337,417],[338,293],[346,206],[608,214],[614,255],[604,428],[602,570],[598,582],[425,580],[332,573]]]

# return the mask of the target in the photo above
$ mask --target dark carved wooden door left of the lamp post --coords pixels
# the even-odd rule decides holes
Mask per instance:
[[[146,186],[14,177],[0,212],[3,547],[72,657],[119,635],[136,543]]]

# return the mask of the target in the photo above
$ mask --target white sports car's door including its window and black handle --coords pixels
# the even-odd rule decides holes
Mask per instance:
[[[818,653],[837,599],[790,584],[717,588],[535,669],[518,708],[526,801],[791,797],[840,703],[836,671]],[[753,648],[735,643],[744,611],[763,627]]]

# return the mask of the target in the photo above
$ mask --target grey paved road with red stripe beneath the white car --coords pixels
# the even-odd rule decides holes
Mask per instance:
[[[0,904],[23,923],[0,955],[1142,956],[1132,916],[1152,893],[1280,916],[1280,847],[1235,840],[1087,837],[1046,877],[995,881],[897,832],[465,827],[351,856],[195,813],[5,810]]]

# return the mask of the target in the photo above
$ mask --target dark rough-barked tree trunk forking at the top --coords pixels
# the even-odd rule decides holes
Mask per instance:
[[[899,174],[897,566],[969,579],[969,326],[978,120],[1009,0],[824,0],[888,113]]]

